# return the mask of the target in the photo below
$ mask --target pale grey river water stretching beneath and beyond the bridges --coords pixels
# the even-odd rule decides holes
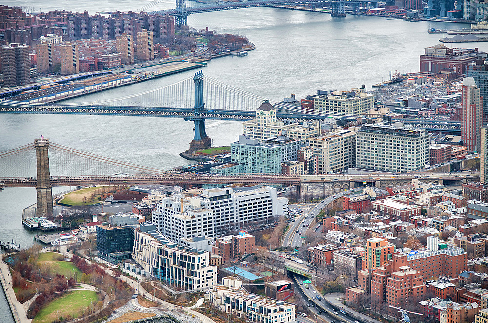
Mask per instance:
[[[30,5],[30,0],[5,5]],[[118,7],[114,7],[115,5]],[[137,10],[140,1],[36,1],[42,11]],[[61,7],[64,6],[64,7]],[[172,8],[163,2],[151,10]],[[389,72],[416,72],[419,55],[435,45],[441,35],[428,34],[435,28],[462,28],[467,25],[438,22],[407,22],[377,17],[332,18],[328,14],[273,8],[247,8],[191,15],[188,24],[196,29],[245,35],[256,45],[247,57],[212,60],[203,73],[245,91],[281,100],[290,93],[297,98],[317,89],[348,90],[379,83]],[[447,44],[451,46],[451,44]],[[488,43],[456,43],[452,46],[488,51]],[[189,71],[132,86],[78,98],[94,101],[146,91],[191,76]],[[207,121],[207,134],[215,145],[228,145],[242,132],[242,125],[228,121]],[[10,150],[43,135],[51,141],[82,151],[134,164],[170,168],[188,162],[178,154],[193,139],[193,123],[183,119],[80,115],[0,115],[0,151]],[[22,161],[18,161],[21,165]],[[0,163],[0,168],[5,168]],[[34,175],[35,166],[30,173]],[[25,172],[24,172],[25,173]],[[16,175],[16,174],[12,174]],[[17,174],[19,175],[19,174]],[[61,190],[61,189],[60,189]],[[21,224],[22,209],[36,201],[34,188],[5,189],[0,192],[0,240],[14,239],[22,247],[32,244],[32,233]],[[0,293],[0,321],[9,322],[10,310]]]

